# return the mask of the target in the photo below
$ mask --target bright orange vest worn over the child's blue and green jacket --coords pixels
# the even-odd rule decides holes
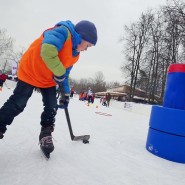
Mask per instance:
[[[20,60],[18,78],[35,87],[53,87],[56,83],[53,80],[52,71],[46,66],[40,56],[43,35],[36,39],[24,53]],[[72,38],[70,37],[59,51],[58,57],[65,68],[73,66],[79,55],[72,55]]]

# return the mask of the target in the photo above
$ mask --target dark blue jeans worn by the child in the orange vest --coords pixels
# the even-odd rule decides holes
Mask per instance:
[[[31,97],[34,86],[23,81],[18,81],[13,95],[4,103],[0,109],[0,131],[5,133],[7,125],[10,125],[14,118],[23,112],[28,99]],[[39,88],[42,94],[44,111],[41,114],[41,126],[54,126],[57,113],[56,87]]]

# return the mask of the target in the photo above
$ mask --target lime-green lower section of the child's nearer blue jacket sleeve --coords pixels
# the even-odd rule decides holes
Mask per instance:
[[[66,69],[62,65],[59,57],[57,48],[51,44],[42,44],[41,57],[47,67],[56,76],[62,76],[65,74]]]

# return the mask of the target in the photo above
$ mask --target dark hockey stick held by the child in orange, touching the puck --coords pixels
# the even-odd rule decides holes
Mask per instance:
[[[65,111],[65,115],[66,115],[66,119],[67,119],[67,124],[68,124],[68,127],[69,127],[69,133],[70,133],[70,136],[71,136],[71,140],[72,141],[80,141],[81,140],[81,141],[83,141],[84,144],[89,143],[90,135],[74,136],[68,109],[65,108],[64,111]]]

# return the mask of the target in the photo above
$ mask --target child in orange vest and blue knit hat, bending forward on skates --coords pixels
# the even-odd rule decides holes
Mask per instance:
[[[0,109],[0,139],[4,137],[7,125],[10,125],[14,118],[23,112],[33,90],[39,88],[44,105],[39,142],[45,153],[50,154],[54,150],[52,132],[55,116],[58,107],[68,107],[70,71],[78,61],[80,52],[96,45],[96,42],[95,25],[83,20],[76,25],[71,21],[61,21],[54,27],[46,29],[30,45],[20,60],[19,81],[14,93]],[[57,84],[63,91],[59,106],[56,99]],[[29,124],[32,124],[32,120]]]

